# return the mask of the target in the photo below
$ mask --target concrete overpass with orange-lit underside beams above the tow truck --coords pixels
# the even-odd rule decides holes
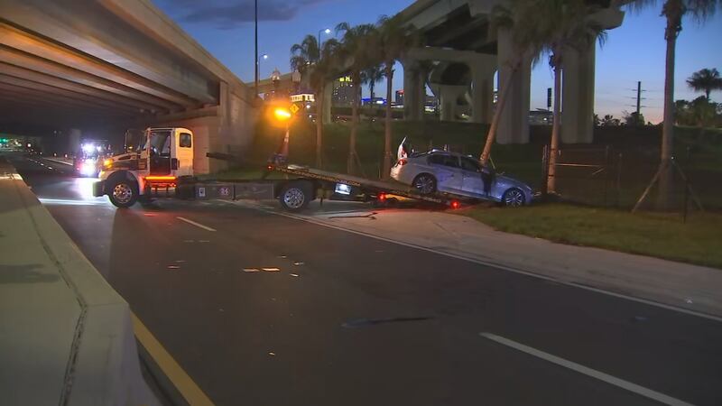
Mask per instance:
[[[223,167],[206,152],[250,145],[254,103],[149,0],[0,1],[0,131],[185,126],[203,173]]]

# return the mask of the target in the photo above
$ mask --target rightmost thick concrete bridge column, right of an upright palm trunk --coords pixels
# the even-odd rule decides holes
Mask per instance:
[[[564,51],[561,82],[561,142],[591,143],[594,133],[596,44],[587,51]]]

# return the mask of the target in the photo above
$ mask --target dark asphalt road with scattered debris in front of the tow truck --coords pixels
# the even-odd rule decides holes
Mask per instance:
[[[224,202],[116,210],[36,161],[14,164],[218,405],[722,404],[716,321]]]

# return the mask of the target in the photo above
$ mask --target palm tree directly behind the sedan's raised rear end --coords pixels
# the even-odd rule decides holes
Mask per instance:
[[[377,58],[384,64],[386,77],[386,117],[384,120],[384,169],[383,178],[391,175],[391,94],[393,91],[393,65],[396,60],[419,43],[419,34],[404,24],[401,14],[393,17],[382,15],[376,23],[375,50]]]

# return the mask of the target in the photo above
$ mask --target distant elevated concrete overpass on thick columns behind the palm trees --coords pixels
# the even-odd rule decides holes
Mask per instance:
[[[590,0],[602,7],[590,16],[606,29],[621,25],[620,2]],[[402,11],[427,46],[412,50],[403,60],[404,115],[420,119],[424,87],[440,99],[440,118],[454,120],[470,113],[472,122],[488,123],[494,109],[494,77],[499,83],[513,74],[506,63],[517,51],[507,29],[489,30],[489,14],[500,0],[418,0]],[[625,3],[625,2],[621,2]],[[596,44],[588,51],[565,53],[562,83],[564,143],[592,141]],[[530,110],[531,60],[523,63],[512,80],[509,99],[499,125],[499,143],[527,143]],[[501,93],[503,89],[499,89]]]

